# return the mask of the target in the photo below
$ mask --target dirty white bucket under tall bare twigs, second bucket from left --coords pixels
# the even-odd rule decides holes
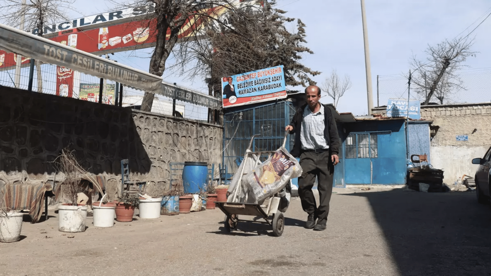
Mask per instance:
[[[85,220],[87,219],[87,205],[58,206],[58,230],[61,232],[83,232],[85,231]]]

